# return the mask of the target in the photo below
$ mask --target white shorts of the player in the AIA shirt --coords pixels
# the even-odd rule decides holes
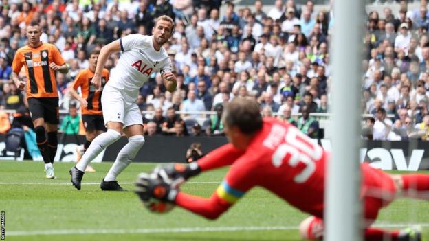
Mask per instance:
[[[121,122],[124,124],[123,128],[136,124],[143,125],[140,108],[135,102],[126,99],[120,90],[106,84],[101,95],[104,125],[107,122]]]

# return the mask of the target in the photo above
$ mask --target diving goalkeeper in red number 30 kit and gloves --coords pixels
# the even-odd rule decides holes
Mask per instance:
[[[292,124],[262,119],[254,100],[232,100],[225,108],[223,124],[230,144],[188,165],[156,168],[157,178],[140,174],[136,183],[140,198],[143,201],[157,198],[216,219],[252,187],[265,187],[290,205],[311,214],[301,222],[303,238],[322,238],[325,163],[329,153]],[[179,192],[172,184],[225,165],[231,165],[230,170],[210,198]],[[371,224],[379,210],[397,196],[428,199],[417,195],[421,194],[418,191],[429,190],[429,175],[390,175],[366,163],[361,165],[361,171],[365,240],[421,240],[417,229],[391,231],[376,229]]]

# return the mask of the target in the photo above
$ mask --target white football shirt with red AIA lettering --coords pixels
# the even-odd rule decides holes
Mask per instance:
[[[139,89],[154,71],[165,73],[173,70],[171,60],[164,47],[156,51],[152,36],[130,34],[120,38],[122,54],[107,84],[137,100]],[[129,98],[126,98],[129,100]]]

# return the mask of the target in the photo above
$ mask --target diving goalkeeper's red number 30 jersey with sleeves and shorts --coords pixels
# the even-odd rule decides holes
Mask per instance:
[[[316,140],[310,139],[292,124],[264,119],[263,128],[252,139],[247,150],[226,144],[198,161],[206,171],[231,165],[225,179],[209,198],[198,198],[179,192],[176,204],[207,218],[217,218],[252,187],[270,190],[294,207],[323,217],[325,163],[329,153]],[[362,195],[368,187],[395,192],[393,181],[381,170],[361,165]],[[365,216],[375,218],[383,204],[378,198],[365,197]]]

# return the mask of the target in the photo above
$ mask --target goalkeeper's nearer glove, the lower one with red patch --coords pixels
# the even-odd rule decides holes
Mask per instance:
[[[175,203],[177,193],[179,192],[177,187],[171,187],[153,173],[140,173],[137,176],[135,186],[135,194],[137,194],[142,201],[156,198],[158,200]]]

